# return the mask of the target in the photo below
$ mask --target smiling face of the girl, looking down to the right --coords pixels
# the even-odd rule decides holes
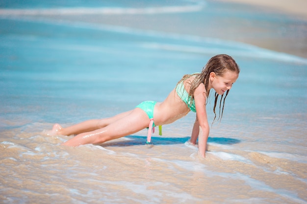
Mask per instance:
[[[210,73],[210,88],[213,88],[218,94],[223,95],[225,91],[230,90],[232,84],[237,80],[239,74],[227,70],[222,76]]]

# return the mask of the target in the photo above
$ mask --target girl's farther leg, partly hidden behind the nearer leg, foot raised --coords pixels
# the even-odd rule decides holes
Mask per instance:
[[[120,113],[120,114],[117,114],[109,118],[87,120],[87,121],[78,123],[76,125],[69,126],[67,128],[63,128],[59,124],[54,124],[52,131],[51,131],[51,135],[70,136],[70,135],[77,135],[80,133],[94,131],[97,129],[101,129],[109,125],[110,123],[116,120],[119,120],[122,117],[125,117],[129,113],[131,113],[131,111]]]

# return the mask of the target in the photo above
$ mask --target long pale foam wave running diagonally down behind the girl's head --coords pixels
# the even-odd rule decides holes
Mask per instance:
[[[109,25],[102,23],[82,23],[82,22],[75,22],[69,20],[57,21],[47,18],[33,19],[31,17],[20,19],[17,16],[12,16],[11,19],[19,21],[44,22],[44,23],[64,25],[64,26],[83,28],[83,29],[84,28],[94,29],[94,30],[130,34],[130,35],[177,40],[177,42],[173,44],[159,43],[159,42],[150,42],[150,43],[143,42],[138,45],[148,49],[160,49],[160,50],[169,50],[169,51],[178,51],[185,53],[196,53],[196,54],[209,54],[209,55],[228,53],[236,57],[249,57],[249,58],[258,58],[258,59],[260,58],[260,59],[276,60],[280,62],[299,63],[307,65],[307,59],[303,57],[261,48],[256,45],[250,45],[246,43],[229,41],[229,40],[222,40],[218,38],[201,37],[196,35],[185,35],[178,33],[166,33],[166,32],[153,31],[153,30],[142,30],[127,26]],[[182,45],[184,42],[196,43],[197,45],[195,44]]]

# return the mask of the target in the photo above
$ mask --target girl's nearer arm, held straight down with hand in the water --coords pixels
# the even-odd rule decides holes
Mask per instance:
[[[202,130],[198,136],[198,150],[202,157],[205,157],[206,144],[209,136],[209,124],[205,109],[206,97],[205,85],[200,84],[194,91],[194,100],[199,127]]]

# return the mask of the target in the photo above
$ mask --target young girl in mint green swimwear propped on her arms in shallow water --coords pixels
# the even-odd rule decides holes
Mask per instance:
[[[131,111],[109,118],[88,120],[67,128],[55,124],[51,135],[77,135],[62,144],[67,146],[99,144],[131,135],[144,128],[149,128],[148,136],[150,137],[151,129],[156,125],[170,124],[185,116],[189,111],[193,111],[196,112],[196,120],[189,142],[195,145],[198,138],[199,153],[205,157],[209,135],[205,109],[206,99],[210,90],[214,89],[216,92],[213,108],[214,121],[218,96],[222,95],[220,100],[220,109],[223,103],[222,112],[220,110],[221,115],[218,118],[221,119],[226,96],[232,84],[237,80],[239,72],[238,65],[230,56],[216,55],[207,62],[201,73],[184,75],[163,102],[145,101]]]

